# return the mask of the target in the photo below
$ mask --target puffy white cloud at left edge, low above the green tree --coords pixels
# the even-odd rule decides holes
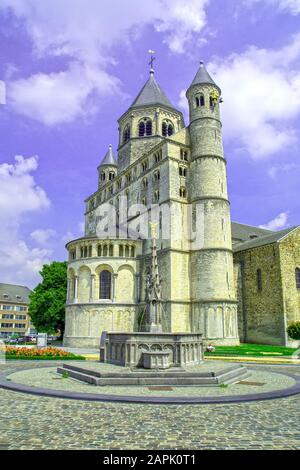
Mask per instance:
[[[0,164],[0,278],[2,282],[34,285],[38,271],[50,261],[51,250],[29,246],[20,235],[24,217],[47,209],[50,201],[31,173],[38,157],[15,157]]]

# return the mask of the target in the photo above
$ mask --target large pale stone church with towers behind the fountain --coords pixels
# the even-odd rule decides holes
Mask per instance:
[[[143,329],[153,236],[163,331],[287,344],[288,323],[300,320],[300,227],[231,222],[221,89],[202,62],[186,96],[188,126],[151,66],[118,120],[117,154],[109,146],[85,201],[85,235],[67,244],[66,346],[98,347],[104,331]],[[107,208],[115,231],[99,235]]]

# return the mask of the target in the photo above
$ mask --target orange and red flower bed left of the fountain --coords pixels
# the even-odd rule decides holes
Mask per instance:
[[[19,347],[16,348],[14,346],[7,346],[5,348],[5,358],[6,359],[76,359],[76,360],[85,360],[83,356],[76,356],[73,353],[64,351],[63,349],[59,348],[23,348]]]

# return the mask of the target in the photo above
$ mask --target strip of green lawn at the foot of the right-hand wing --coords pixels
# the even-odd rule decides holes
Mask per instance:
[[[292,356],[295,351],[297,351],[296,348],[286,348],[285,346],[243,343],[240,346],[216,346],[216,350],[213,353],[206,352],[205,355],[280,357]]]

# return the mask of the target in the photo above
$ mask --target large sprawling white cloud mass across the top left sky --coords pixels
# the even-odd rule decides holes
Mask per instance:
[[[1,0],[24,20],[37,58],[63,56],[65,68],[35,73],[8,83],[8,100],[14,109],[46,125],[86,116],[93,99],[122,94],[119,80],[107,71],[114,64],[110,48],[136,39],[152,25],[172,52],[183,53],[206,25],[210,0]],[[90,102],[88,101],[90,100]]]

